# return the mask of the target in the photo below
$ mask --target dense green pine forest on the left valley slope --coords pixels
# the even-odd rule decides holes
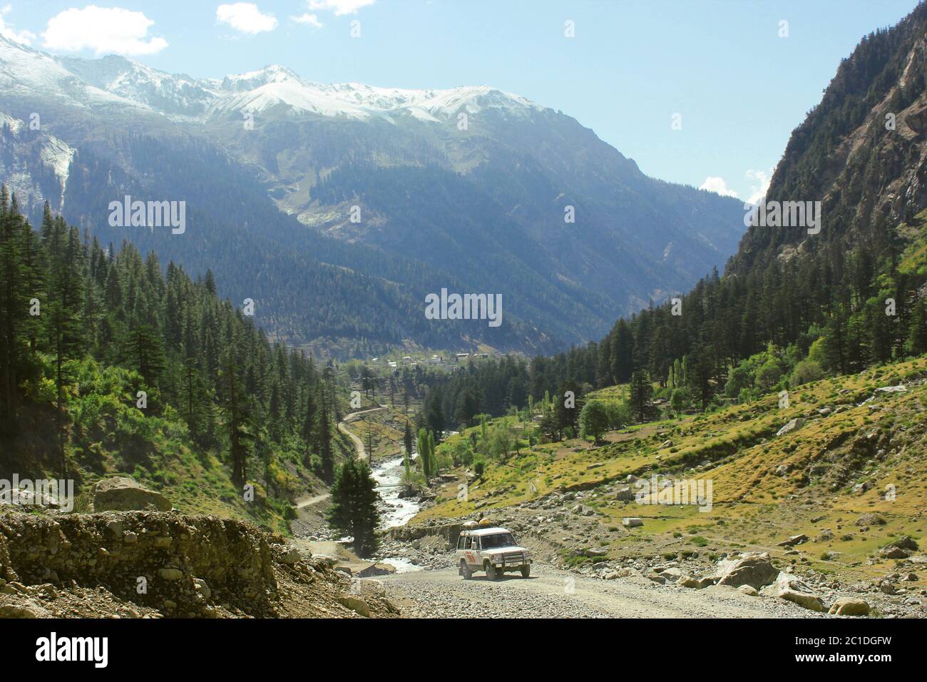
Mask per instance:
[[[215,455],[239,491],[331,483],[333,368],[268,341],[209,271],[194,280],[128,242],[104,248],[47,206],[36,231],[4,187],[0,286],[4,470],[81,483],[115,458],[157,479],[173,448]]]

